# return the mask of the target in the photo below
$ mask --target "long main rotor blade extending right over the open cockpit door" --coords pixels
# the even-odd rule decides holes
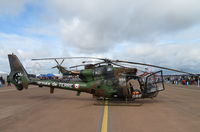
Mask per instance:
[[[135,65],[143,65],[143,66],[150,66],[150,67],[165,69],[165,70],[169,70],[169,71],[175,71],[175,72],[180,72],[180,73],[195,75],[195,74],[193,74],[193,73],[184,72],[184,71],[180,71],[180,70],[177,70],[177,69],[172,69],[172,68],[167,68],[167,67],[162,67],[162,66],[156,66],[156,65],[152,65],[152,64],[146,64],[146,63],[130,62],[130,61],[121,61],[121,60],[116,60],[116,61],[114,61],[114,62],[135,64]]]

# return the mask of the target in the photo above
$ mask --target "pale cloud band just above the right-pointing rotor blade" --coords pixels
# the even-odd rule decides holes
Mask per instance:
[[[142,62],[198,73],[200,71],[200,44],[138,44],[116,52],[114,58]],[[121,58],[123,56],[123,58]]]

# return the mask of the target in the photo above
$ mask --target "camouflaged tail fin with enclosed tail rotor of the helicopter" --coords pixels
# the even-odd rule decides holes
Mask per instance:
[[[18,90],[28,88],[29,78],[28,73],[24,69],[18,57],[14,54],[8,55],[11,72],[9,78]]]

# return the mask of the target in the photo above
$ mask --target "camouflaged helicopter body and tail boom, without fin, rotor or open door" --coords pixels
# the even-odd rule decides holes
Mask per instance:
[[[85,69],[80,71],[79,78],[81,81],[61,81],[61,80],[32,80],[30,84],[40,87],[46,86],[54,88],[77,91],[77,95],[81,92],[93,94],[96,97],[103,98],[147,98],[155,97],[158,91],[156,83],[145,83],[147,76],[137,76],[137,69],[124,69],[113,67],[112,65],[103,65],[93,69]],[[161,77],[161,76],[160,76]],[[139,85],[132,86],[131,81],[137,82]],[[148,88],[150,89],[148,91]],[[152,90],[154,88],[154,90]]]

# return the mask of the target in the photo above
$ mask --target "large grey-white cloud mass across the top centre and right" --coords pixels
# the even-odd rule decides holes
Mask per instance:
[[[198,0],[49,0],[64,45],[79,52],[107,52],[124,41],[157,42],[199,24]],[[53,13],[52,13],[53,12]]]

